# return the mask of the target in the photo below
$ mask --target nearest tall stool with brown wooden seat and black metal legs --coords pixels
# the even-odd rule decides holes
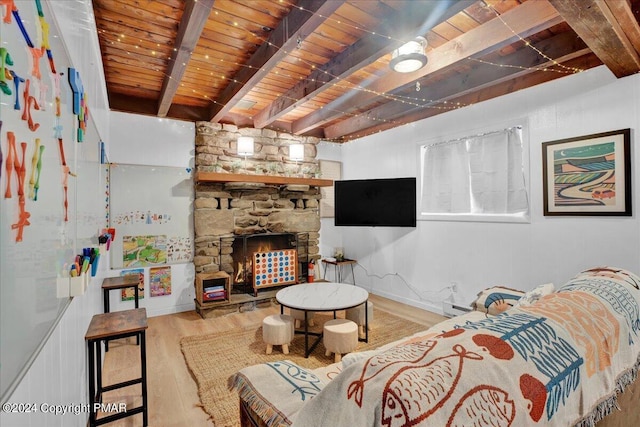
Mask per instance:
[[[147,353],[145,331],[147,329],[147,311],[144,308],[116,311],[114,313],[96,314],[91,319],[84,339],[89,350],[89,425],[90,427],[110,423],[121,418],[142,413],[142,425],[149,423],[147,413]],[[109,339],[137,337],[140,340],[140,378],[116,383],[108,386],[102,385],[102,349],[100,343]],[[103,403],[102,393],[129,387],[134,384],[142,386],[142,405],[136,408],[126,408],[123,412],[117,412],[100,419],[96,419],[96,407],[94,404]]]

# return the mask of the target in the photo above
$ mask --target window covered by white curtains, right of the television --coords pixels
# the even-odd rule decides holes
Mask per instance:
[[[422,219],[527,222],[522,127],[423,145]]]

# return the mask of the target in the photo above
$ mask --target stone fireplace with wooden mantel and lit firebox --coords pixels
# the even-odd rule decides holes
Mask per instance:
[[[237,154],[239,136],[252,136],[255,154]],[[298,282],[318,261],[320,188],[317,138],[232,125],[196,125],[194,230],[196,274],[224,271],[232,294],[250,293],[248,259],[271,249],[297,251]],[[302,162],[288,160],[288,147],[303,144]],[[246,181],[245,181],[246,179]],[[326,185],[326,184],[325,184]]]

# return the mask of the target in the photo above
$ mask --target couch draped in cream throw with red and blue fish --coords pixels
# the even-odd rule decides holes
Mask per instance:
[[[247,367],[230,386],[243,425],[581,427],[617,413],[628,426],[639,365],[640,278],[601,267],[495,316],[474,311],[312,371]]]

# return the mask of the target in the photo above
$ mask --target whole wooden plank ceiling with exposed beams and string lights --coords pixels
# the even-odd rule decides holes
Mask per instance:
[[[93,0],[112,110],[338,142],[606,65],[640,0]],[[424,36],[428,63],[389,68]]]

